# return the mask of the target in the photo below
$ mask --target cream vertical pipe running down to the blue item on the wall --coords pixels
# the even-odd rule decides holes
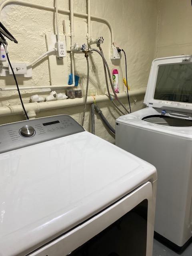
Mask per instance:
[[[75,85],[75,70],[74,70],[74,8],[73,0],[70,0],[70,31],[71,31],[71,66],[72,66],[72,76],[73,76],[73,85]]]

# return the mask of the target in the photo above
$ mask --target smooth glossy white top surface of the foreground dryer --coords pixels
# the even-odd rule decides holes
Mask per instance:
[[[148,180],[155,167],[79,132],[0,154],[0,255],[26,255]]]

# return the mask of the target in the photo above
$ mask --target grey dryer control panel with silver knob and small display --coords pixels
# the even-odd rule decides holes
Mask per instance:
[[[68,115],[49,116],[0,125],[0,153],[84,132]]]

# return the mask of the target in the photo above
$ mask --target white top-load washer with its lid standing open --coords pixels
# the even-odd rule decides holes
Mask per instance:
[[[116,145],[157,168],[155,231],[182,247],[192,236],[192,57],[154,60],[144,104],[116,120]]]

